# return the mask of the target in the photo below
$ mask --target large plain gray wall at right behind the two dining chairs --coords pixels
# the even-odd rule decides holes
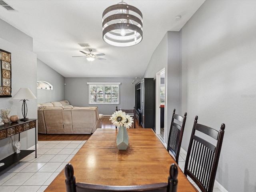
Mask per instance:
[[[187,149],[198,123],[226,124],[216,180],[229,192],[256,191],[256,1],[206,1],[180,32]]]

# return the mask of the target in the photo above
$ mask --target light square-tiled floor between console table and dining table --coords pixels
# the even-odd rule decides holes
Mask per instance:
[[[86,141],[38,141],[35,152],[0,172],[0,192],[43,192]]]

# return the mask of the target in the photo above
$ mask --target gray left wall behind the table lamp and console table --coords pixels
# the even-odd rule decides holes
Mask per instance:
[[[20,88],[30,88],[37,96],[36,89],[36,54],[32,52],[33,40],[8,23],[0,19],[0,49],[11,52],[12,56],[12,96]],[[28,118],[37,118],[37,100],[27,102]],[[22,102],[12,98],[0,98],[0,109],[11,108],[11,115],[22,118]],[[21,148],[27,149],[35,145],[35,129],[20,134]],[[18,141],[18,135],[12,136],[13,144]],[[0,140],[0,159],[14,153],[11,138]]]

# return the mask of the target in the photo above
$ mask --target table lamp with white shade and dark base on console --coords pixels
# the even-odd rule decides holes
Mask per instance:
[[[30,91],[29,88],[20,88],[20,90],[18,90],[18,92],[12,97],[12,99],[20,99],[20,101],[23,101],[23,104],[22,104],[23,118],[20,120],[21,121],[29,120],[29,118],[26,118],[28,113],[26,101],[28,101],[28,99],[36,99],[36,96],[34,96],[34,94]]]

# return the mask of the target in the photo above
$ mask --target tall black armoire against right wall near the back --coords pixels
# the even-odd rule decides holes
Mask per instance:
[[[143,128],[154,129],[154,78],[144,78],[135,86],[136,120]]]

